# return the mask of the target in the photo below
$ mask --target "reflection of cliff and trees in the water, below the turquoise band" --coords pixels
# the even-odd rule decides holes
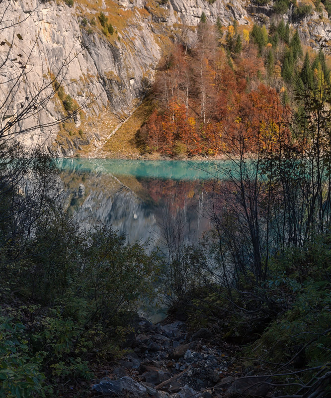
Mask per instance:
[[[163,236],[162,225],[165,220],[175,225],[180,217],[183,223],[183,238],[186,243],[196,242],[204,230],[210,228],[209,221],[203,217],[203,196],[192,195],[194,184],[174,183],[172,189],[162,180],[149,180],[143,183],[148,194],[151,186],[159,195],[159,199],[151,204],[140,199],[130,188],[123,185],[111,174],[80,174],[63,173],[62,178],[69,185],[67,206],[76,214],[82,227],[103,223],[112,225],[119,233],[127,236],[127,242],[153,239],[160,244]],[[77,180],[83,179],[84,184]],[[185,193],[185,191],[187,193]],[[152,195],[153,196],[153,195]],[[168,217],[168,218],[167,218]],[[170,217],[170,218],[169,218]]]

